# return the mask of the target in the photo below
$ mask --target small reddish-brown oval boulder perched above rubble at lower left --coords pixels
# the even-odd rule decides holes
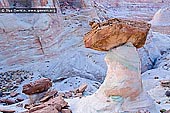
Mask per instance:
[[[41,78],[34,83],[25,84],[23,86],[22,92],[27,95],[32,95],[36,93],[41,93],[48,90],[52,86],[52,82],[48,78]]]

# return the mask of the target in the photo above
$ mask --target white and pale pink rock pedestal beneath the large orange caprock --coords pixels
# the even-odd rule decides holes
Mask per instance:
[[[142,91],[136,48],[127,43],[111,49],[105,61],[108,66],[105,81],[95,94],[71,102],[73,113],[137,113],[140,110],[157,113],[153,101]]]

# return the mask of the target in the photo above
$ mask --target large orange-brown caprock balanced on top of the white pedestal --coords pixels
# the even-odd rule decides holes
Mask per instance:
[[[111,48],[131,42],[140,48],[145,44],[150,24],[142,21],[110,19],[102,23],[91,23],[92,30],[85,34],[85,47],[108,51]]]

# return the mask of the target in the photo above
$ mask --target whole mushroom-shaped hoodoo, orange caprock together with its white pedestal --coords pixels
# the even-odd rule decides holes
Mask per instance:
[[[121,27],[116,27],[117,32],[108,32],[109,30],[106,29],[111,29],[114,24],[118,24],[116,23],[117,21],[115,23],[113,21],[113,25],[110,26],[104,26],[106,23],[101,23],[101,25],[103,24],[102,26],[104,26],[103,28],[99,28],[101,34],[97,31],[93,32],[94,29],[92,29],[85,35],[85,45],[87,43],[87,35],[91,36],[90,38],[93,40],[89,42],[103,43],[102,46],[97,46],[97,50],[108,51],[105,57],[108,70],[106,78],[97,92],[76,103],[77,106],[74,109],[75,111],[73,110],[74,113],[120,113],[125,111],[132,113],[140,110],[156,113],[152,100],[142,89],[141,63],[135,48],[135,46],[142,47],[144,45],[150,25],[143,22],[135,26],[134,23],[137,23],[135,21],[121,21],[130,26],[124,26],[124,32],[122,29],[119,29]],[[97,25],[92,25],[92,28],[95,28],[96,26]],[[120,26],[122,25],[120,24]],[[126,30],[128,28],[131,30]],[[138,29],[139,31],[142,29],[144,32],[141,33]],[[133,33],[129,34],[132,31],[138,32],[133,32],[135,35]],[[112,35],[114,33],[116,36]],[[102,36],[104,38],[101,39],[100,37]],[[134,41],[128,42],[127,39],[126,41],[121,42],[120,40],[117,40],[118,36],[132,37]],[[138,41],[138,39],[143,41]],[[114,42],[114,40],[116,41]],[[96,49],[93,45],[88,47]]]

